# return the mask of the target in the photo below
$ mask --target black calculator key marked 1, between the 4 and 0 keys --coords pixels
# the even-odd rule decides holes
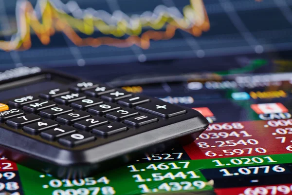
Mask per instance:
[[[55,127],[54,129],[43,131],[40,133],[40,136],[44,139],[53,141],[59,137],[67,136],[75,132],[76,132],[76,129],[74,127],[64,125],[60,127]]]

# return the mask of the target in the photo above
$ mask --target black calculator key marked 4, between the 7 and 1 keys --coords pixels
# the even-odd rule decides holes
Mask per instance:
[[[31,134],[37,134],[38,132],[41,132],[43,130],[50,129],[56,126],[58,126],[58,123],[55,120],[46,119],[46,120],[41,120],[29,125],[25,125],[23,127],[23,130]]]

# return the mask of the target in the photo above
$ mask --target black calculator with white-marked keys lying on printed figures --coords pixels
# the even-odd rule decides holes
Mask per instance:
[[[0,77],[0,152],[38,171],[93,175],[188,144],[208,126],[193,109],[36,70]]]

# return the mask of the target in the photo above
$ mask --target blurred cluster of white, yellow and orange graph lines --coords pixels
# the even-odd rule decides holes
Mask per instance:
[[[181,13],[176,7],[158,5],[141,15],[128,16],[120,10],[112,14],[93,8],[81,9],[75,1],[64,4],[60,0],[38,0],[34,8],[27,0],[16,4],[18,32],[10,40],[0,41],[4,51],[27,50],[31,47],[31,33],[35,33],[42,44],[50,43],[56,32],[63,32],[77,46],[109,45],[143,49],[150,40],[167,40],[174,37],[177,29],[193,36],[208,31],[210,23],[202,0],[190,0]],[[143,32],[144,28],[150,28]],[[165,28],[165,31],[160,31]],[[33,32],[31,32],[31,29]],[[94,31],[112,37],[81,38],[78,33],[91,36]],[[128,38],[121,39],[127,35]]]

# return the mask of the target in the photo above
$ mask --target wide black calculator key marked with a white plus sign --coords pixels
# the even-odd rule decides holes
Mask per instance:
[[[174,117],[186,113],[185,109],[163,101],[146,103],[137,106],[136,109],[164,118]]]

